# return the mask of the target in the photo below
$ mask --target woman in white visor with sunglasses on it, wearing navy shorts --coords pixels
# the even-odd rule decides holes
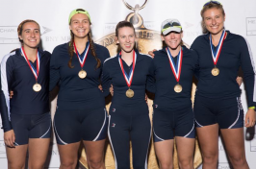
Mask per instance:
[[[154,52],[150,68],[151,75],[155,78],[156,89],[154,91],[154,88],[147,87],[149,91],[155,92],[153,104],[155,151],[160,168],[172,169],[175,139],[179,167],[192,169],[194,118],[191,92],[197,56],[183,45],[183,31],[178,20],[165,20],[161,32],[166,47]]]

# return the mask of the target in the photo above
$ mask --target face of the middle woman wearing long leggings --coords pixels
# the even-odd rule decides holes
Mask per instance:
[[[115,36],[116,43],[119,43],[122,52],[130,53],[133,51],[136,41],[135,31],[131,27],[122,27]]]

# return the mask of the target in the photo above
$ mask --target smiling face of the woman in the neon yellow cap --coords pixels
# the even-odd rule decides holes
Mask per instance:
[[[75,38],[88,38],[90,32],[90,19],[84,13],[76,13],[72,16],[69,29]]]

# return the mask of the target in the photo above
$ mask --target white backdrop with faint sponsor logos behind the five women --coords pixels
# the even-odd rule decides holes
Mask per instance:
[[[122,0],[0,0],[0,60],[14,48],[19,47],[16,35],[17,25],[24,19],[35,19],[41,27],[41,40],[44,50],[52,52],[58,44],[69,39],[68,14],[73,9],[83,8],[90,12],[92,34],[94,40],[115,32],[118,21],[124,20],[128,10]],[[144,0],[127,0],[132,7],[140,6]],[[192,44],[196,36],[201,35],[200,11],[205,0],[148,0],[141,14],[147,29],[160,32],[160,26],[166,18],[178,18],[184,29],[184,41]],[[232,33],[244,36],[256,60],[256,1],[255,0],[222,0],[226,21],[225,28]],[[242,102],[246,112],[246,100],[243,85]],[[1,122],[0,125],[2,126]],[[256,136],[255,128],[244,129],[246,157],[251,169],[256,168]],[[49,168],[59,168],[59,153],[55,140],[49,152]],[[219,141],[218,169],[228,169],[229,165]],[[7,168],[7,159],[0,131],[0,168]]]

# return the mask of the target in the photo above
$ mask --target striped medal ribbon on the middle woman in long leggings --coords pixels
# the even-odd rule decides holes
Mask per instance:
[[[121,67],[121,70],[122,70],[123,77],[124,77],[125,82],[128,85],[128,87],[130,87],[131,84],[132,84],[133,77],[134,77],[134,68],[135,68],[135,64],[136,64],[136,60],[137,60],[136,52],[134,51],[133,53],[134,53],[134,55],[133,55],[133,68],[130,70],[129,75],[127,75],[127,73],[125,72],[125,70],[123,68],[122,59],[121,59],[121,52],[119,53],[119,58],[118,58],[118,61],[119,61],[119,64],[120,64],[120,67]]]

